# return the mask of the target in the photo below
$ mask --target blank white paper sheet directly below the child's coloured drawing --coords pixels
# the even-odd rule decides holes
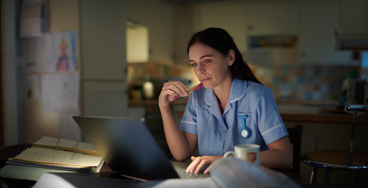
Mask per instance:
[[[79,82],[79,73],[42,75],[42,111],[79,112]]]

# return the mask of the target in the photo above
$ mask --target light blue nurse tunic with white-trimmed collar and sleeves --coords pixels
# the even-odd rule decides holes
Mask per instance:
[[[248,130],[246,138],[240,134],[242,121]],[[238,144],[258,144],[264,151],[268,144],[288,136],[272,91],[236,78],[223,114],[213,89],[202,87],[193,91],[179,128],[198,136],[200,156],[224,155]]]

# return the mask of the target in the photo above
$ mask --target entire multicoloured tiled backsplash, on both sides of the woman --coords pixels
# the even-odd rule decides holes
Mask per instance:
[[[256,77],[273,91],[276,100],[293,101],[337,102],[341,82],[346,78],[347,72],[350,70],[359,72],[358,67],[346,66],[251,66],[251,68]],[[190,66],[128,64],[129,83],[165,79],[198,82]]]

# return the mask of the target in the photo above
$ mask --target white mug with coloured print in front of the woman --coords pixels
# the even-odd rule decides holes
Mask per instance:
[[[248,161],[254,165],[259,165],[259,145],[256,144],[241,144],[234,147],[235,152],[228,151],[224,158],[228,155],[233,155],[244,161]]]

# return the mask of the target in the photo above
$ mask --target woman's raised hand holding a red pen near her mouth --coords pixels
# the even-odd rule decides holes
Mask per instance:
[[[188,88],[180,81],[168,81],[164,83],[160,96],[158,97],[158,105],[165,107],[175,100],[174,97],[180,95],[181,97],[188,96]]]

